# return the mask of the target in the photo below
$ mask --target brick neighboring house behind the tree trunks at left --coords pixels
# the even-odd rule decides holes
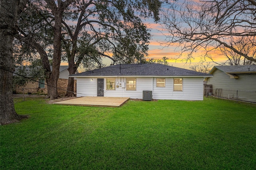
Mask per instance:
[[[50,66],[50,69],[52,70],[52,66]],[[29,67],[26,68],[26,70],[29,72]],[[78,71],[77,71],[78,73]],[[14,76],[17,76],[14,74]],[[68,66],[60,66],[60,76],[58,79],[58,88],[66,90],[68,87]],[[47,84],[46,80],[44,78],[38,78],[38,82],[30,81],[25,86],[19,86],[16,87],[16,93],[21,94],[47,94]],[[58,94],[65,94],[66,91],[58,89]],[[76,92],[76,80],[74,80],[74,91]]]

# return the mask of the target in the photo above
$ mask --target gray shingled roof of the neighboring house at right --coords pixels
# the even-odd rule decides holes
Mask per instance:
[[[242,66],[235,65],[235,66],[214,66],[214,68],[212,68],[210,73],[212,73],[216,68],[227,73],[256,72],[256,65],[242,65]]]

